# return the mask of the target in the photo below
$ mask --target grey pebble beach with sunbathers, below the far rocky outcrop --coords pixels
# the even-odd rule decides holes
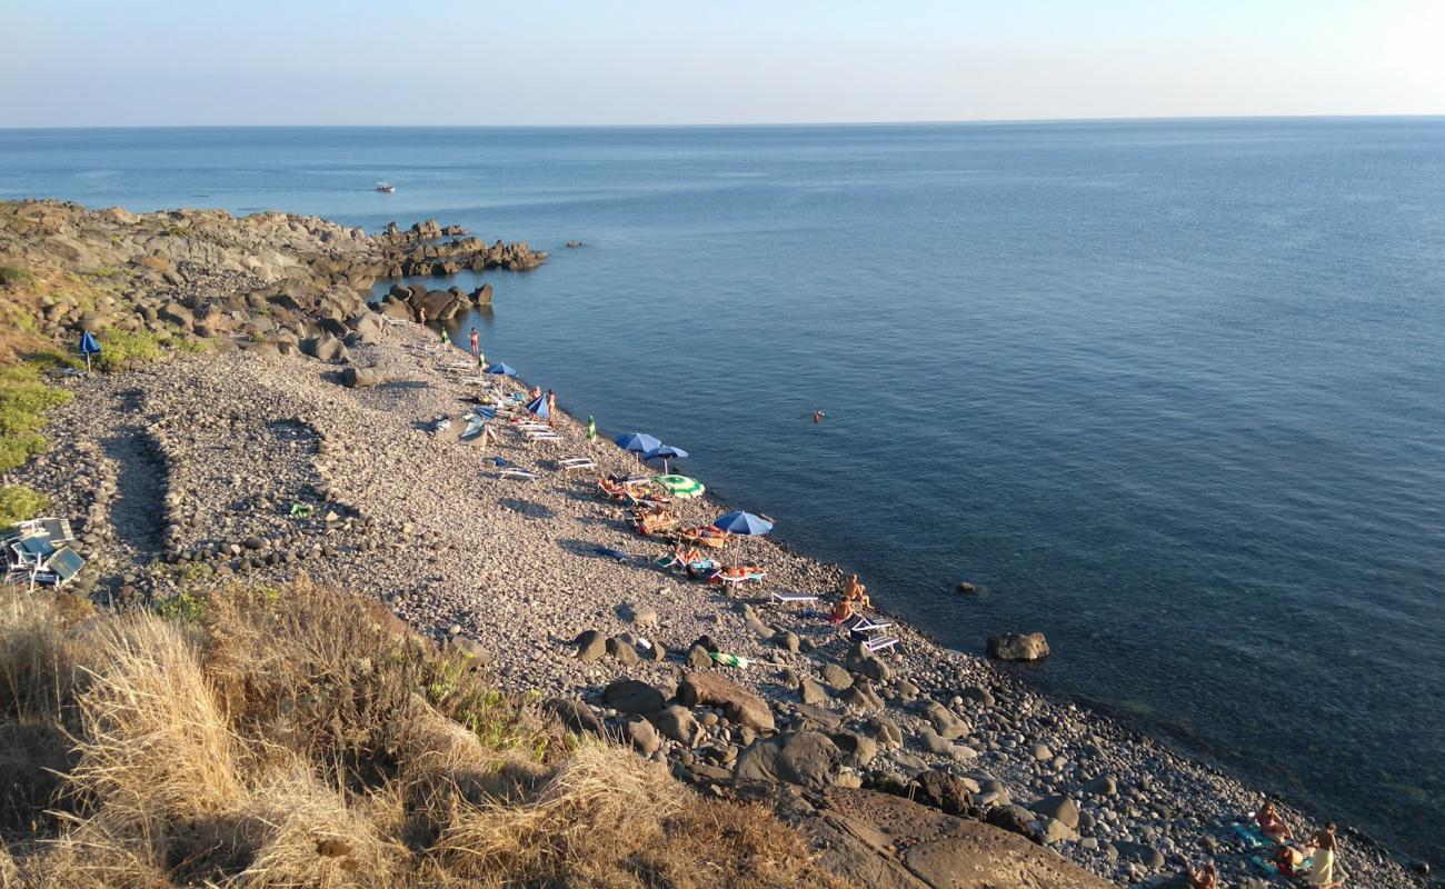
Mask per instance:
[[[77,398],[52,418],[64,437],[22,478],[52,493],[59,513],[84,516],[94,590],[121,607],[198,581],[305,575],[468,646],[503,688],[579,701],[643,755],[724,792],[756,729],[701,707],[668,726],[676,737],[629,730],[626,703],[605,692],[630,679],[670,694],[707,636],[749,666],[704,669],[757,694],[779,731],[860,739],[835,782],[902,785],[945,768],[967,779],[980,812],[1013,812],[1020,830],[1111,882],[1159,883],[1183,860],[1214,860],[1225,885],[1267,885],[1233,828],[1259,792],[906,624],[890,629],[893,649],[850,659],[825,616],[844,568],[792,552],[786,525],[783,542],[728,544],[727,562],[766,567],[762,585],[722,590],[655,567],[670,546],[633,532],[624,507],[597,496],[600,474],[637,470],[631,454],[588,441],[566,416],[555,442],[530,442],[504,419],[494,444],[462,441],[470,403],[523,383],[480,377],[467,353],[415,324],[377,325],[368,338],[351,353],[384,376],[368,387],[342,386],[340,364],[266,350],[69,383]],[[452,422],[436,431],[442,418]],[[500,477],[496,457],[538,478]],[[556,468],[568,457],[597,468]],[[707,497],[675,507],[683,525],[724,509]],[[168,551],[182,555],[166,561]],[[819,603],[770,604],[772,590]],[[588,635],[598,645],[579,652]],[[1311,825],[1285,811],[1296,833]],[[1416,885],[1367,838],[1345,836],[1341,866],[1354,885]]]

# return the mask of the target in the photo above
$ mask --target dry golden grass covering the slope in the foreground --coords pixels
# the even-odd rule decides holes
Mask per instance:
[[[834,885],[766,809],[578,746],[384,610],[296,585],[204,613],[4,594],[0,888]]]

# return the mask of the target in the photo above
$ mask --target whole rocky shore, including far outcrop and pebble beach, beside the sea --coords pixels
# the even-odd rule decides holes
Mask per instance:
[[[197,234],[156,234],[166,220]],[[368,237],[280,214],[10,204],[0,223],[7,265],[127,269],[110,302],[52,295],[36,306],[39,335],[130,324],[210,341],[205,354],[62,380],[77,398],[51,416],[56,447],[16,473],[77,519],[94,598],[142,607],[298,575],[380,598],[475,653],[503,688],[536,691],[577,730],[621,739],[704,792],[811,815],[824,864],[864,883],[939,885],[922,851],[912,860],[922,840],[860,827],[881,815],[850,815],[854,788],[1003,827],[1114,885],[1178,885],[1183,860],[1214,860],[1228,886],[1270,885],[1233,828],[1260,795],[1228,775],[906,624],[890,627],[900,640],[890,652],[861,650],[824,614],[841,568],[775,541],[727,551],[766,567],[764,587],[727,591],[659,570],[668,546],[595,496],[597,474],[626,473],[633,458],[566,418],[558,442],[504,424],[493,445],[461,441],[458,419],[486,386],[509,396],[520,383],[483,382],[470,356],[413,318],[428,301],[461,311],[458,298],[480,296],[393,288],[367,308],[363,293],[392,272],[526,270],[545,254],[435,224]],[[117,246],[124,230],[136,234]],[[439,418],[451,426],[436,431]],[[496,457],[539,478],[501,478]],[[598,468],[571,474],[564,457]],[[715,510],[678,504],[685,525]],[[769,590],[822,604],[770,604]],[[717,666],[709,649],[750,665]],[[1285,817],[1296,833],[1308,824]],[[902,863],[857,857],[860,837],[897,844]],[[1341,867],[1351,885],[1419,885],[1348,831]],[[1078,880],[1068,885],[1103,885]]]

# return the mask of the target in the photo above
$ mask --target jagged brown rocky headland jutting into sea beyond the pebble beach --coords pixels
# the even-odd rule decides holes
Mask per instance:
[[[0,265],[42,283],[35,332],[149,331],[168,337],[273,344],[282,351],[329,334],[347,337],[379,279],[447,276],[464,269],[526,272],[546,253],[523,243],[467,237],[435,220],[376,236],[283,212],[220,210],[134,214],[59,201],[0,202]],[[445,321],[491,304],[491,285],[402,291],[406,312]]]

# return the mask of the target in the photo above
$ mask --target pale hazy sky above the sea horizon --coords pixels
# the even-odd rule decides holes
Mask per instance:
[[[1445,0],[0,0],[0,126],[1445,113]]]

